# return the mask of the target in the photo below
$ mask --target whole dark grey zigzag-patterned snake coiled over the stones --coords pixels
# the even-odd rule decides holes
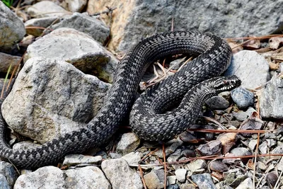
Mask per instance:
[[[136,100],[139,82],[147,67],[158,59],[179,54],[195,59],[141,93]],[[211,33],[173,31],[145,38],[130,48],[117,65],[103,107],[86,127],[39,147],[16,150],[6,142],[7,125],[1,115],[0,156],[18,168],[56,165],[67,154],[83,153],[108,142],[129,115],[132,130],[141,139],[171,139],[195,122],[209,97],[239,85],[236,76],[220,76],[229,67],[231,56],[228,43]],[[0,100],[0,105],[3,101]],[[168,110],[173,103],[179,103],[178,108]]]

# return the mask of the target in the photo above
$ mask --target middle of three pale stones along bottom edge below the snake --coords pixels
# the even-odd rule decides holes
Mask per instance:
[[[111,185],[105,178],[103,171],[96,166],[68,169],[65,171],[65,187],[68,189],[77,188],[105,188],[110,189]]]

